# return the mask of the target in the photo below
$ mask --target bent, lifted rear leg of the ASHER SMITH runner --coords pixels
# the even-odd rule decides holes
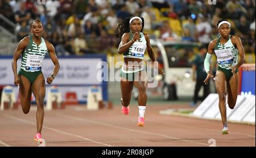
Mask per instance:
[[[31,83],[26,77],[19,76],[19,99],[20,104],[22,105],[22,110],[24,114],[27,114],[30,111],[30,102],[31,102]]]

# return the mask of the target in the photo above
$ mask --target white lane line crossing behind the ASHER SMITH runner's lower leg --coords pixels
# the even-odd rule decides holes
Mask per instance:
[[[20,121],[20,122],[25,122],[25,123],[29,123],[29,124],[34,124],[34,125],[36,125],[36,123],[30,122],[30,121],[28,121],[28,120],[26,120],[26,119],[20,119],[20,118],[13,117],[13,116],[7,115],[7,114],[4,114],[4,115],[5,115],[5,117],[11,118],[11,119],[15,119],[15,120],[18,120],[18,121]],[[89,138],[85,138],[85,137],[80,136],[80,135],[70,134],[70,133],[68,133],[68,132],[64,132],[64,131],[57,130],[57,129],[55,129],[55,128],[51,128],[51,127],[47,127],[47,126],[43,126],[43,128],[46,128],[46,129],[51,130],[51,131],[59,132],[59,133],[61,133],[61,134],[65,134],[65,135],[69,135],[69,136],[75,136],[75,137],[77,137],[77,138],[84,139],[84,140],[88,140],[88,141],[93,142],[93,143],[96,143],[96,144],[105,145],[105,146],[107,146],[107,147],[113,147],[113,146],[110,145],[110,144],[101,143],[101,142],[98,142],[98,141],[95,141],[95,140],[92,140],[92,139],[89,139]]]

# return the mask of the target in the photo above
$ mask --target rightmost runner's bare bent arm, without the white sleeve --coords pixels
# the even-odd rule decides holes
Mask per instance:
[[[230,66],[230,68],[232,68],[232,72],[235,73],[236,69],[239,68],[243,63],[245,63],[245,50],[243,49],[243,45],[242,45],[242,41],[241,41],[240,37],[234,36],[232,39],[238,49],[238,53],[240,56],[240,60],[238,61],[237,65]]]

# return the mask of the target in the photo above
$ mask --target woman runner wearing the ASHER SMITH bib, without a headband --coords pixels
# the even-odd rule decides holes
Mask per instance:
[[[32,93],[36,99],[38,110],[36,111],[37,133],[34,137],[36,142],[42,142],[42,127],[44,119],[44,97],[46,95],[46,81],[42,73],[44,56],[49,53],[52,63],[55,65],[52,75],[47,77],[47,83],[51,84],[56,74],[59,72],[60,64],[53,45],[42,38],[43,24],[40,20],[33,20],[31,25],[31,35],[19,41],[18,47],[13,56],[14,84],[19,85],[20,104],[24,114],[30,111],[30,101]],[[17,74],[17,60],[22,54],[22,62]]]

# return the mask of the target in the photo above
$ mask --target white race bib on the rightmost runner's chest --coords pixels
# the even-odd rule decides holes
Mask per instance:
[[[233,54],[231,48],[214,50],[218,63],[230,64],[233,62]]]

